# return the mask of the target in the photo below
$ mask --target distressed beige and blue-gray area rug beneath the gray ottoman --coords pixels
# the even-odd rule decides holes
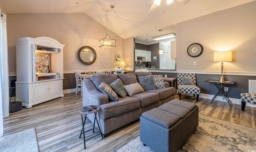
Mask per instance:
[[[199,125],[178,152],[256,152],[256,129],[199,114]],[[114,152],[154,152],[140,135]]]

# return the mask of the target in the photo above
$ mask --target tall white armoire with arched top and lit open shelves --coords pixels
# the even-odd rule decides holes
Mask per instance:
[[[65,45],[49,37],[24,37],[15,41],[16,101],[31,108],[36,104],[63,97]]]

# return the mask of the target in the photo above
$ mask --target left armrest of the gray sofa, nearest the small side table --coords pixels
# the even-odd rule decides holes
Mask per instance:
[[[108,103],[108,96],[98,91],[92,80],[84,79],[82,83],[83,107],[89,105],[100,106]]]

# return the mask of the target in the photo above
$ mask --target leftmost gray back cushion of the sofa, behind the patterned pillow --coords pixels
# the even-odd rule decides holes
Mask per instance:
[[[90,77],[93,84],[96,86],[96,88],[100,91],[100,84],[102,82],[105,82],[106,84],[111,84],[116,80],[118,77],[115,74],[95,74]]]

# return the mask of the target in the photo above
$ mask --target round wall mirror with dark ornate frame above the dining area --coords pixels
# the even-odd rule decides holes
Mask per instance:
[[[83,46],[77,53],[78,59],[82,64],[90,65],[96,60],[96,52],[90,46]]]

